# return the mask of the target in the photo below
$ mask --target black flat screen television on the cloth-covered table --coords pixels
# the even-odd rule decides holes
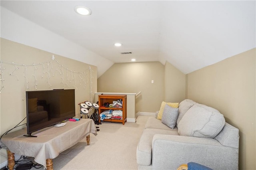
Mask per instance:
[[[75,90],[26,91],[27,137],[32,132],[76,116]]]

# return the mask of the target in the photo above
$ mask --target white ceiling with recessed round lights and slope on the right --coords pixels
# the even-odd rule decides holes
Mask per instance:
[[[92,15],[78,15],[77,5]],[[1,0],[1,6],[113,63],[168,61],[190,73],[256,47],[256,1]]]

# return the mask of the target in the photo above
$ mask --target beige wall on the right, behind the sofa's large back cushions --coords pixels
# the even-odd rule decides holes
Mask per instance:
[[[256,169],[256,49],[186,75],[186,98],[214,107],[240,130],[239,169]]]

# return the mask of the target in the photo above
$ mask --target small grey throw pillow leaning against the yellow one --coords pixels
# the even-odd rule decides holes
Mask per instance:
[[[164,125],[174,129],[176,127],[176,121],[178,118],[179,109],[170,107],[169,105],[164,106],[163,116],[162,116],[162,123]]]

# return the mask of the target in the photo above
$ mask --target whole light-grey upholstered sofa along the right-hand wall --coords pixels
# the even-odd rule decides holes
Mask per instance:
[[[145,125],[136,151],[138,169],[176,170],[188,162],[214,170],[238,169],[238,128],[216,109],[189,99],[176,110],[167,105],[161,120],[156,112]],[[167,122],[176,126],[168,125],[165,115],[172,115]]]

